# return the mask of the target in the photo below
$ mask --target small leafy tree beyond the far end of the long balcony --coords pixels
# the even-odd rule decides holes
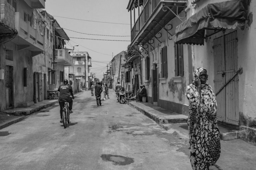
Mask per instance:
[[[137,45],[128,45],[126,51],[124,51],[124,62],[126,65],[125,68],[128,68],[128,71],[132,70],[132,62],[128,62],[128,60],[133,56],[133,55],[141,55],[139,52],[139,47]]]

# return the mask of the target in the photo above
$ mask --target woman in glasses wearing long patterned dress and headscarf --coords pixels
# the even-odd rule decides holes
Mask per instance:
[[[189,101],[190,162],[193,170],[209,170],[220,157],[220,138],[217,126],[217,103],[212,87],[206,83],[207,70],[198,67],[193,83],[187,86]]]

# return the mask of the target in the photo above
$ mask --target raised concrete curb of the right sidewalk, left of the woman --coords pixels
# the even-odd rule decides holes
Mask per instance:
[[[188,118],[185,115],[166,115],[166,116],[159,116],[157,114],[154,114],[150,111],[146,111],[135,104],[133,102],[128,103],[129,106],[133,107],[134,109],[137,109],[150,119],[154,120],[157,124],[170,124],[170,123],[186,123]]]

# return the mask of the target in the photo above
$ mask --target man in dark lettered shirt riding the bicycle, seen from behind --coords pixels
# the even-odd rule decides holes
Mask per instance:
[[[72,112],[72,105],[73,105],[72,99],[74,99],[75,97],[73,94],[73,88],[72,88],[72,86],[70,86],[68,84],[67,79],[64,79],[63,84],[59,86],[58,92],[60,92],[60,94],[59,94],[60,123],[62,123],[63,106],[64,106],[65,102],[68,102],[69,103],[69,113],[73,113]],[[72,96],[72,99],[71,99],[70,95]]]

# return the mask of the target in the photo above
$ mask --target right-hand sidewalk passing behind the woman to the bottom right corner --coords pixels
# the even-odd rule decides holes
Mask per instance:
[[[131,107],[153,119],[161,127],[173,132],[179,139],[188,140],[187,116],[154,106],[150,103],[129,102]],[[241,139],[230,140],[230,134],[236,134],[231,128],[219,126],[221,131],[221,155],[211,170],[255,170],[256,146]],[[232,138],[233,139],[233,138]],[[186,155],[190,155],[188,146],[181,148]]]

